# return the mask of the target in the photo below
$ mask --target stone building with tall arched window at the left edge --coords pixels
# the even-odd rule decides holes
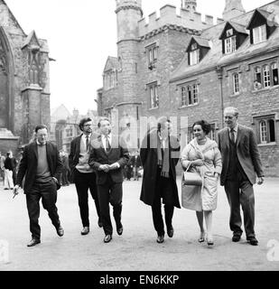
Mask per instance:
[[[27,144],[34,126],[50,125],[49,48],[33,31],[25,34],[0,0],[0,150]]]

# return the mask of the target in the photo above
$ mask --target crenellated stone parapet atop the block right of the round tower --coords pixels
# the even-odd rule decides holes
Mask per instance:
[[[213,16],[205,15],[204,21],[201,19],[201,14],[181,8],[180,14],[176,13],[176,7],[173,5],[164,5],[160,9],[160,16],[156,12],[148,16],[148,23],[143,18],[139,21],[139,36],[152,33],[154,30],[160,30],[166,25],[176,25],[190,30],[200,31],[209,28],[214,24]]]

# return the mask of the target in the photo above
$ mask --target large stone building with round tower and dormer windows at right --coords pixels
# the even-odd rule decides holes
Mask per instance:
[[[246,12],[226,0],[215,23],[201,19],[197,2],[182,0],[179,15],[164,5],[146,23],[140,0],[116,0],[117,57],[107,59],[98,111],[127,119],[122,129],[129,119],[178,117],[183,146],[194,121],[208,120],[216,138],[224,107],[238,107],[266,175],[279,176],[279,1]]]

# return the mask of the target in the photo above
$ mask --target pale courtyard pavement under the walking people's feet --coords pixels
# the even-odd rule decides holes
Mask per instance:
[[[178,178],[179,189],[180,183]],[[258,247],[247,244],[244,235],[240,243],[231,242],[228,201],[222,188],[218,210],[213,215],[213,248],[198,243],[195,212],[185,209],[174,212],[174,237],[166,237],[162,245],[157,244],[151,208],[139,200],[140,188],[141,181],[124,182],[124,234],[119,237],[115,233],[112,242],[104,244],[94,202],[89,200],[91,230],[83,237],[75,188],[62,187],[58,209],[64,237],[56,235],[42,209],[42,244],[28,248],[31,237],[23,192],[13,200],[12,191],[4,191],[1,184],[0,271],[279,270],[279,179],[266,179],[263,186],[255,186]],[[3,253],[4,242],[8,255]]]

